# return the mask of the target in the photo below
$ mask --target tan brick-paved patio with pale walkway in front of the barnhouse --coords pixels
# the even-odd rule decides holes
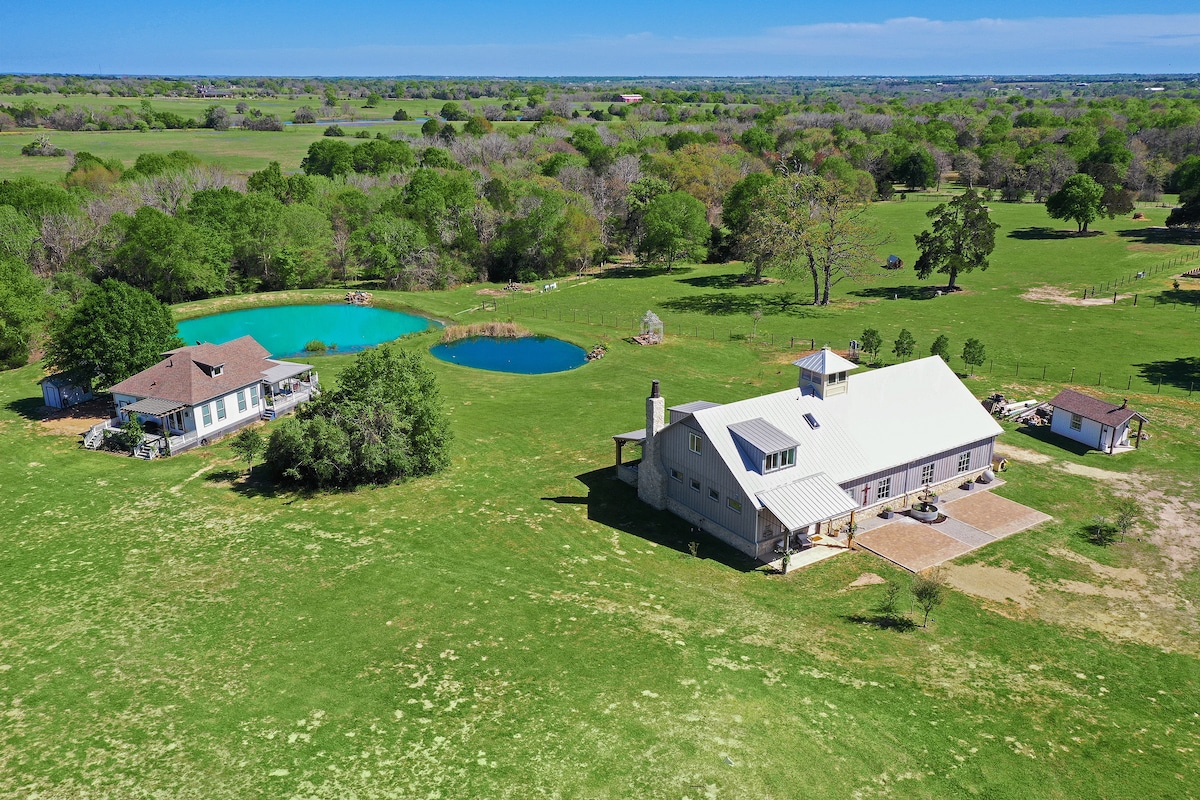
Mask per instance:
[[[986,489],[948,492],[938,509],[947,518],[934,524],[905,515],[878,519],[881,524],[871,519],[869,530],[863,531],[868,525],[859,528],[863,533],[854,542],[911,572],[920,572],[1050,519]]]

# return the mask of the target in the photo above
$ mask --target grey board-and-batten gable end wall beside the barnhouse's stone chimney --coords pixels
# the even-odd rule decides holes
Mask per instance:
[[[688,425],[684,420],[662,429],[660,437],[660,457],[667,476],[667,497],[702,517],[712,519],[722,528],[732,530],[746,541],[755,541],[757,533],[757,512],[750,498],[745,497],[733,474],[721,461],[713,444],[700,429],[700,426]],[[701,452],[691,452],[688,434],[696,433],[703,439]],[[676,480],[672,470],[682,474]],[[691,481],[700,481],[700,492],[691,488]],[[709,491],[719,494],[716,500],[709,498]],[[728,506],[728,499],[742,504],[740,513]]]

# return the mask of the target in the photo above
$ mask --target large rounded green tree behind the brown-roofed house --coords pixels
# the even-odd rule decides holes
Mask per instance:
[[[46,361],[82,384],[106,389],[182,345],[167,306],[149,291],[106,278],[54,320]]]

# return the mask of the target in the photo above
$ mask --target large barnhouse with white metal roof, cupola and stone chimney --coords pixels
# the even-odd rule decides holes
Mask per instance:
[[[901,506],[991,467],[1002,432],[942,359],[862,374],[828,348],[794,362],[799,385],[736,403],[671,407],[654,381],[646,428],[613,437],[638,497],[762,560],[790,534]],[[642,459],[622,463],[625,444]]]

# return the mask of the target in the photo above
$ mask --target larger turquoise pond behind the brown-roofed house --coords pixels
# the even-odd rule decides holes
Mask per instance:
[[[253,336],[272,356],[286,359],[302,355],[313,339],[354,353],[428,326],[424,317],[370,306],[271,306],[187,319],[179,324],[179,336],[187,344]]]

